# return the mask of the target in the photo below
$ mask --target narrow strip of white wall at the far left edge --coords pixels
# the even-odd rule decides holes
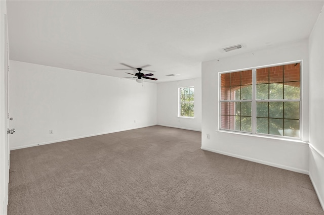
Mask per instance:
[[[7,149],[7,96],[5,81],[5,14],[7,14],[6,1],[0,1],[0,214],[7,214],[8,204],[8,158]]]

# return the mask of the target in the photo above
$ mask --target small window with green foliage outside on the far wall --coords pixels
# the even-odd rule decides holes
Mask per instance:
[[[179,117],[194,117],[193,87],[179,87]]]

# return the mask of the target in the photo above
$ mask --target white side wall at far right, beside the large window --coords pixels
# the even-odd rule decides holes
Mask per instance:
[[[324,208],[324,15],[309,37],[309,177]]]

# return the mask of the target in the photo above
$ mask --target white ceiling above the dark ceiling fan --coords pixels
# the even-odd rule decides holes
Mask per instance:
[[[7,1],[10,59],[115,77],[135,72],[120,63],[149,64],[157,82],[195,78],[202,61],[308,38],[323,4]]]

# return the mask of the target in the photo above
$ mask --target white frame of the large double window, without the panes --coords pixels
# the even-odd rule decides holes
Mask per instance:
[[[266,100],[260,100],[256,99],[256,70],[262,69],[262,68],[268,68],[268,67],[275,67],[275,66],[284,66],[294,63],[300,63],[300,98],[299,99],[266,99]],[[224,73],[232,73],[232,72],[240,72],[240,71],[246,71],[246,70],[252,70],[252,100],[221,100],[221,74]],[[218,75],[218,131],[228,131],[231,133],[241,133],[241,134],[247,134],[251,136],[263,136],[263,137],[273,137],[276,139],[291,139],[291,140],[303,140],[303,119],[302,119],[302,95],[303,95],[303,61],[291,61],[291,62],[285,62],[285,63],[279,63],[279,64],[270,64],[270,65],[264,65],[264,66],[258,66],[258,67],[250,67],[250,68],[244,68],[244,69],[238,69],[238,70],[229,70],[224,72],[219,72]],[[247,131],[237,131],[237,130],[231,130],[231,129],[222,129],[221,128],[221,102],[227,101],[227,102],[241,102],[241,101],[251,101],[251,117],[252,117],[252,132]],[[263,134],[263,133],[257,133],[257,101],[264,101],[264,102],[273,102],[273,101],[299,101],[299,137],[289,137],[289,136],[279,136],[279,135],[272,135],[272,134]]]

